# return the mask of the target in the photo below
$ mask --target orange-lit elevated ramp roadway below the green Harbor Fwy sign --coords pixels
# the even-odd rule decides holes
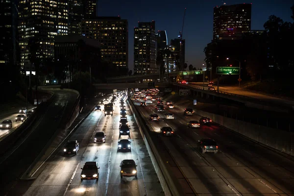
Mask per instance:
[[[207,82],[204,83],[204,86],[207,87]],[[188,85],[190,86],[196,86],[196,87],[203,87],[203,83],[201,82],[189,82]],[[217,86],[216,84],[214,85],[214,87],[217,90]],[[290,105],[293,106],[294,105],[294,100],[288,100],[288,99],[283,99],[283,98],[277,98],[277,97],[273,97],[270,95],[266,95],[266,94],[260,94],[258,92],[254,92],[254,91],[250,91],[244,88],[239,88],[236,86],[220,86],[219,87],[219,91],[222,92],[227,92],[227,93],[232,93],[232,94],[236,94],[236,95],[241,95],[241,96],[246,96],[246,97],[250,97],[250,98],[256,98],[258,100],[261,100],[263,102],[274,102],[276,104],[281,104],[281,105]]]

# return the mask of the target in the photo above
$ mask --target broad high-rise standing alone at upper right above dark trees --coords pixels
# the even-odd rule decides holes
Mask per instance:
[[[251,30],[251,3],[214,7],[213,39]]]

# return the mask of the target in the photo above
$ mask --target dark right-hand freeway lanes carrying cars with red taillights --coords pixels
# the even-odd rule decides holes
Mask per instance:
[[[154,104],[140,107],[148,117]],[[199,116],[184,116],[184,108],[168,109],[176,120],[152,122],[155,131],[171,126],[176,137],[161,137],[182,172],[199,195],[290,195],[294,193],[294,162],[240,137],[217,124],[200,129],[187,127]],[[159,114],[163,118],[163,114]],[[201,138],[212,138],[220,152],[202,154],[196,149]]]

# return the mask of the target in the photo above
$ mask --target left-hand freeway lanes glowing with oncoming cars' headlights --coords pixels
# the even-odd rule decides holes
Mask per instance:
[[[41,174],[26,191],[25,196],[164,196],[143,138],[131,111],[127,106],[130,123],[131,152],[118,152],[119,102],[114,105],[114,115],[104,116],[93,111],[77,128],[69,140],[77,140],[80,150],[77,155],[64,156],[63,147],[44,164]],[[102,114],[102,115],[101,115]],[[96,130],[95,130],[96,129]],[[104,131],[106,143],[94,143],[96,131]],[[121,139],[127,139],[122,136]],[[133,159],[138,165],[138,179],[120,177],[120,162]],[[98,182],[80,180],[81,167],[87,161],[100,165]]]

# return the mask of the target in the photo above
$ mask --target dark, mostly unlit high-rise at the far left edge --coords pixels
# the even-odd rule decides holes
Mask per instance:
[[[18,59],[17,0],[0,1],[0,68],[16,65]]]

